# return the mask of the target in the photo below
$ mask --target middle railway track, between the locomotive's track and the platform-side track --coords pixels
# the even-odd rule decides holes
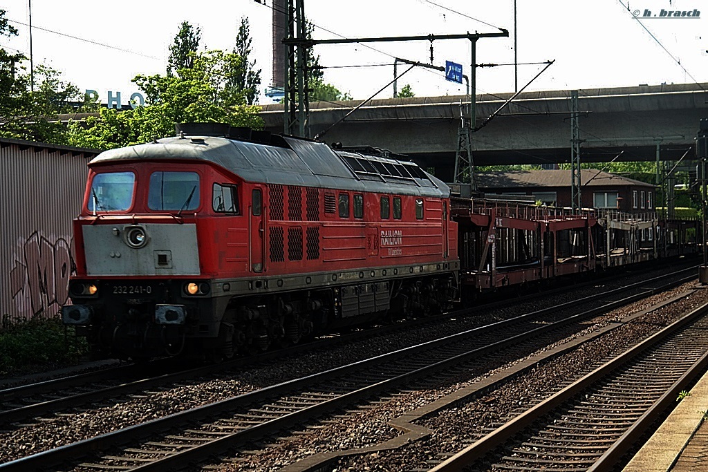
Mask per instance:
[[[695,278],[693,272],[689,277],[673,275],[669,283],[678,284],[687,278]],[[656,280],[607,292],[601,297],[588,297],[553,310],[528,313],[492,326],[476,328],[51,449],[0,465],[0,470],[24,471],[55,467],[64,461],[86,457],[87,454],[90,457],[96,451],[108,451],[116,444],[128,446],[118,452],[103,452],[99,454],[102,459],[86,461],[80,468],[173,470],[230,447],[249,444],[318,415],[331,414],[338,408],[345,408],[382,392],[397,391],[401,385],[414,379],[440,375],[440,372],[449,374],[451,369],[460,364],[505,346],[518,346],[529,342],[529,339],[534,339],[533,345],[542,345],[562,335],[562,328],[569,323],[661,291],[666,284],[666,277],[657,277]],[[649,287],[651,285],[655,287]],[[571,306],[575,306],[576,311],[569,315]],[[510,334],[511,331],[513,333]],[[484,342],[481,338],[484,338]],[[132,444],[139,437],[149,439]]]

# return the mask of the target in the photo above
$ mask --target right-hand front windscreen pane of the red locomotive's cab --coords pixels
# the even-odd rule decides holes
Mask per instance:
[[[192,210],[199,207],[199,174],[165,172],[150,174],[147,207],[157,210]]]

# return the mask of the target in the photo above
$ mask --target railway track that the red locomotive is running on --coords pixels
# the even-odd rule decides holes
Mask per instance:
[[[692,270],[695,269],[689,267],[675,273],[680,275],[683,272],[690,273]],[[657,280],[663,279],[660,278]],[[652,283],[651,279],[636,282],[624,287],[622,293],[641,294],[643,293],[643,289],[646,289]],[[544,292],[544,295],[560,292],[561,290],[563,290],[563,288]],[[522,299],[533,299],[539,296],[539,294],[534,294],[528,297],[520,297],[519,299],[507,299],[503,303],[511,305],[518,303],[518,301]],[[480,311],[480,309],[460,310],[453,313],[445,313],[445,315],[442,316],[420,318],[406,323],[405,326],[382,326],[366,331],[338,335],[336,337],[330,336],[313,343],[296,345],[275,352],[265,352],[261,355],[234,359],[218,365],[200,365],[190,369],[175,369],[171,359],[164,359],[152,362],[152,365],[147,366],[122,365],[97,372],[86,372],[84,374],[42,381],[36,384],[6,388],[0,390],[0,430],[12,423],[22,421],[32,422],[32,418],[38,418],[42,415],[51,415],[52,413],[61,413],[72,410],[73,408],[82,408],[91,403],[105,401],[110,398],[118,398],[133,393],[141,393],[142,391],[150,389],[162,388],[166,385],[176,384],[188,379],[198,379],[200,377],[229,372],[229,370],[242,369],[246,366],[273,362],[277,359],[298,355],[302,352],[328,349],[337,344],[351,343],[362,338],[387,335],[396,330],[413,328],[414,326],[428,323],[438,323],[440,321],[449,320],[450,317],[474,315],[475,311]]]

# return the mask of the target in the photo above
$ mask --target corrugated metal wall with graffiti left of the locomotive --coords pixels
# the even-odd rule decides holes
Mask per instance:
[[[57,316],[96,151],[0,139],[0,326]]]

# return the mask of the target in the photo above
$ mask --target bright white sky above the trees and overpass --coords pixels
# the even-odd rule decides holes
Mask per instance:
[[[316,39],[336,38],[333,33],[363,38],[495,33],[498,30],[493,27],[506,28],[509,38],[477,42],[476,62],[508,64],[514,61],[513,1],[307,0],[305,13],[316,25]],[[138,91],[130,82],[133,76],[164,74],[168,47],[181,21],[202,28],[202,47],[231,50],[241,17],[248,16],[253,58],[256,67],[263,69],[261,88],[265,88],[272,75],[272,0],[265,3],[31,0],[35,64],[44,62],[59,69],[64,79],[79,88],[98,91],[103,102],[108,91],[121,91],[122,101],[127,103],[130,94]],[[6,18],[20,33],[17,38],[0,37],[0,45],[29,55],[28,0],[3,0],[0,8],[7,11]],[[697,9],[700,16],[659,18],[662,9]],[[637,21],[632,12],[637,11],[641,18],[645,10],[651,11],[652,18]],[[556,59],[527,90],[708,82],[708,4],[703,1],[632,0],[629,10],[627,0],[518,1],[517,18],[518,62]],[[315,52],[321,65],[329,67],[326,81],[354,98],[368,98],[393,78],[394,57],[429,62],[429,48],[428,41],[387,42],[320,45]],[[435,41],[433,48],[433,64],[458,62],[463,64],[464,74],[469,74],[468,40]],[[366,64],[387,65],[343,67]],[[520,65],[519,88],[542,67]],[[399,65],[399,74],[406,68]],[[418,68],[401,79],[399,88],[404,84],[411,84],[416,96],[464,93],[464,86],[445,81],[442,73]],[[508,91],[514,91],[513,66],[477,69],[477,93]],[[377,98],[389,96],[392,87]],[[269,102],[261,97],[261,103]]]

